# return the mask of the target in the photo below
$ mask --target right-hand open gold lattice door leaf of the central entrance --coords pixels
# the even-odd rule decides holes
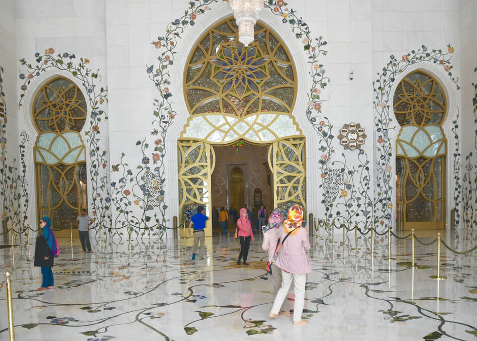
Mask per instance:
[[[274,207],[287,211],[294,204],[306,210],[305,138],[274,142],[268,150],[273,172]]]

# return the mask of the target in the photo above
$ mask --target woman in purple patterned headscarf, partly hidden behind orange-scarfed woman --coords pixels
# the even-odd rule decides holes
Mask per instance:
[[[267,224],[267,232],[263,232],[263,243],[262,249],[264,251],[268,250],[268,262],[271,263],[271,270],[272,270],[272,279],[273,279],[273,287],[275,289],[275,294],[278,293],[278,290],[282,286],[282,270],[275,264],[272,263],[273,255],[275,255],[275,251],[277,251],[277,246],[279,242],[279,229],[282,228],[283,225],[283,216],[280,213],[280,210],[276,208],[270,214],[268,218]],[[278,248],[279,249],[279,248]],[[285,298],[283,301],[281,312],[278,314],[279,316],[290,316],[290,309],[291,305],[288,300]]]

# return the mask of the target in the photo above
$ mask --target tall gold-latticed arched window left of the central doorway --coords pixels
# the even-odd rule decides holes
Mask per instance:
[[[66,227],[87,208],[86,151],[79,134],[86,101],[76,84],[57,77],[38,90],[32,114],[38,214],[49,216],[54,228]]]

